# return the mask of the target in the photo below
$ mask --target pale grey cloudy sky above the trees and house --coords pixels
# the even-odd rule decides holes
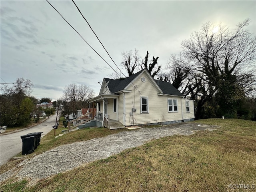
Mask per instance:
[[[147,50],[150,58],[159,56],[164,68],[182,40],[208,21],[232,30],[250,18],[247,29],[256,34],[254,0],[75,2],[118,66],[122,52],[137,49],[143,58]],[[73,2],[50,3],[116,69]],[[57,100],[71,83],[86,84],[97,95],[98,82],[114,72],[46,0],[1,0],[0,6],[1,83],[30,79],[32,96]]]

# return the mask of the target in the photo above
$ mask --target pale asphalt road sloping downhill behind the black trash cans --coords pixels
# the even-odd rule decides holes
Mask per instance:
[[[59,119],[59,118],[58,118]],[[15,155],[22,152],[22,140],[20,136],[33,132],[43,132],[41,138],[52,130],[55,125],[56,114],[47,118],[46,121],[32,128],[0,136],[0,165],[5,164]]]

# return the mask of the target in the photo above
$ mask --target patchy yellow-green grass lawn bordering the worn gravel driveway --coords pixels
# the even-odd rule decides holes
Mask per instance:
[[[1,191],[255,190],[243,188],[256,188],[256,122],[206,119],[194,123],[218,125],[220,128],[191,136],[177,135],[152,140],[107,159],[41,180],[35,186],[27,186],[26,180],[7,180],[1,184]],[[96,131],[90,130],[91,134]],[[73,139],[72,135],[68,137]],[[52,147],[59,142],[62,142],[62,137]],[[46,143],[47,140],[42,141],[44,150]]]

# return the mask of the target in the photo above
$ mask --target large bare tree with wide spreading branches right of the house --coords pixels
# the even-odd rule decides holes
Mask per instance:
[[[191,92],[200,100],[198,108],[214,99],[222,113],[235,112],[239,100],[255,91],[256,36],[245,30],[248,24],[245,20],[234,31],[220,24],[217,31],[208,22],[182,42],[193,83],[201,89]]]

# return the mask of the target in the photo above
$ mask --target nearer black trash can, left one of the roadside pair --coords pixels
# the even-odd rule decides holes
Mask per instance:
[[[37,136],[22,135],[22,155],[34,152],[36,146]]]

